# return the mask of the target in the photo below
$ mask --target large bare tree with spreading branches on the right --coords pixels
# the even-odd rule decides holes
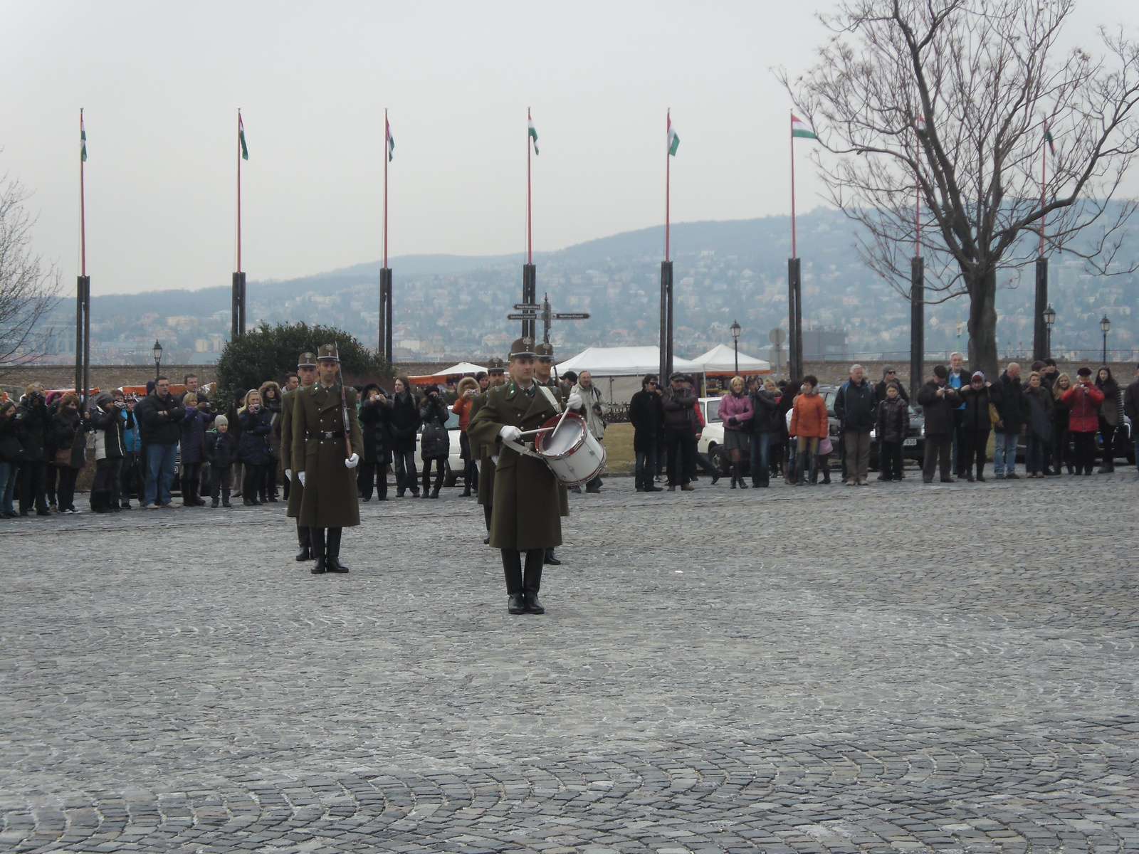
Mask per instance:
[[[991,375],[998,272],[1030,263],[1042,230],[1095,272],[1134,269],[1115,266],[1134,211],[1115,196],[1139,150],[1139,46],[1101,31],[1103,56],[1057,56],[1073,6],[846,0],[822,17],[818,65],[780,72],[831,200],[865,227],[863,258],[908,296],[920,230],[929,301],[968,295],[969,363]]]

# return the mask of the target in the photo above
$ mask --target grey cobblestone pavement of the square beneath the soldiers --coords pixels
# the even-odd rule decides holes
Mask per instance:
[[[1133,471],[0,527],[0,849],[1139,851]]]

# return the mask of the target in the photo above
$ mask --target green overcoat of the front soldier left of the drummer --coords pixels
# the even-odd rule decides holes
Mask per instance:
[[[290,462],[304,471],[305,488],[301,498],[300,524],[312,528],[342,528],[360,524],[360,496],[357,470],[344,460],[344,416],[341,387],[321,388],[318,383],[295,392],[293,404],[293,452]],[[357,419],[357,393],[345,389],[349,413],[349,438],[352,452],[363,459],[363,435]],[[337,434],[326,437],[323,434]],[[302,466],[302,462],[303,466]],[[290,487],[292,488],[292,487]],[[289,492],[292,508],[293,493]]]

